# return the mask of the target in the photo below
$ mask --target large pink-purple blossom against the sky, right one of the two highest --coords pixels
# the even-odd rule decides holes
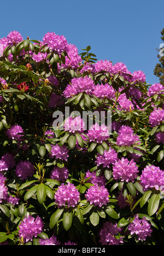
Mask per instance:
[[[61,54],[63,51],[67,51],[68,47],[66,38],[53,32],[48,32],[44,35],[43,44],[48,44],[49,48],[57,51],[58,54]]]

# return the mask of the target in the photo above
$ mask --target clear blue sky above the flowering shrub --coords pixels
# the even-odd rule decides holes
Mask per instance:
[[[123,62],[131,72],[153,74],[156,48],[162,42],[163,0],[1,1],[0,38],[18,31],[24,39],[42,40],[47,32],[66,37],[79,53],[87,45],[98,60]]]

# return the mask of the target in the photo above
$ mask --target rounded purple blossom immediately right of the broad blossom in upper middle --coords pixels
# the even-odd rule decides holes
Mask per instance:
[[[115,90],[112,85],[109,84],[101,84],[96,85],[93,94],[98,98],[114,98]]]

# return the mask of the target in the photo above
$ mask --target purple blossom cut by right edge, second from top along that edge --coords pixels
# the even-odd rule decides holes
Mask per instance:
[[[151,127],[160,125],[162,121],[164,121],[164,109],[154,109],[149,116],[149,123],[151,124]]]

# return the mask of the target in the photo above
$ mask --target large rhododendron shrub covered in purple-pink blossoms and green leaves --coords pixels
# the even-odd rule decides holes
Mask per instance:
[[[163,244],[164,88],[90,50],[0,40],[1,245]]]

